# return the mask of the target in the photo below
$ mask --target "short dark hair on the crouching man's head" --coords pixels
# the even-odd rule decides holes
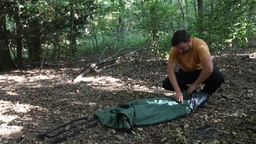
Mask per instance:
[[[187,43],[189,39],[190,39],[189,33],[181,29],[172,35],[172,46],[176,46],[179,43]]]

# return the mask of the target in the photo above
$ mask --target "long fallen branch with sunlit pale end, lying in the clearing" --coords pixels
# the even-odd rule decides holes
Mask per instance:
[[[113,57],[115,55],[117,55],[117,53],[115,53],[115,55],[109,57],[109,58],[105,58],[105,59],[102,59],[101,61],[98,61],[98,62],[95,62],[95,63],[92,63],[89,68],[87,69],[84,69],[82,70],[82,73],[80,73],[77,77],[75,77],[75,79],[72,80],[72,82],[80,82],[82,81],[83,77],[86,75],[86,74],[89,74],[92,70],[95,70],[97,68],[98,65],[100,64],[103,64],[103,63],[107,63],[107,62],[113,62],[113,61],[117,61],[118,59],[121,59],[121,58],[124,58],[124,57],[127,57],[127,56],[130,56],[132,55],[133,53],[143,49],[144,47],[146,47],[147,45],[144,45],[144,46],[139,46],[139,47],[136,47],[135,51],[132,51],[130,53],[127,53],[123,56],[119,56],[119,57]],[[122,49],[123,50],[123,49]],[[118,51],[119,52],[119,51]]]

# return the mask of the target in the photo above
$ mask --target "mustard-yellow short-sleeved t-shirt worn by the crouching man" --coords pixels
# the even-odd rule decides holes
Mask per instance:
[[[191,38],[191,49],[189,52],[182,55],[174,47],[171,48],[169,53],[168,63],[181,64],[183,71],[194,71],[202,69],[201,61],[210,57],[210,51],[205,41],[199,38]]]

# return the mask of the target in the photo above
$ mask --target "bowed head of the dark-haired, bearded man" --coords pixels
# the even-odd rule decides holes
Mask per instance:
[[[172,46],[179,51],[179,53],[187,53],[191,49],[191,39],[188,32],[179,30],[172,36]]]

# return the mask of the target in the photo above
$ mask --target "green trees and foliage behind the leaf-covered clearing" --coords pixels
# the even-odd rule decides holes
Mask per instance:
[[[253,0],[0,1],[0,70],[134,50],[166,58],[186,29],[212,52],[255,48]],[[14,62],[14,64],[13,64]]]

